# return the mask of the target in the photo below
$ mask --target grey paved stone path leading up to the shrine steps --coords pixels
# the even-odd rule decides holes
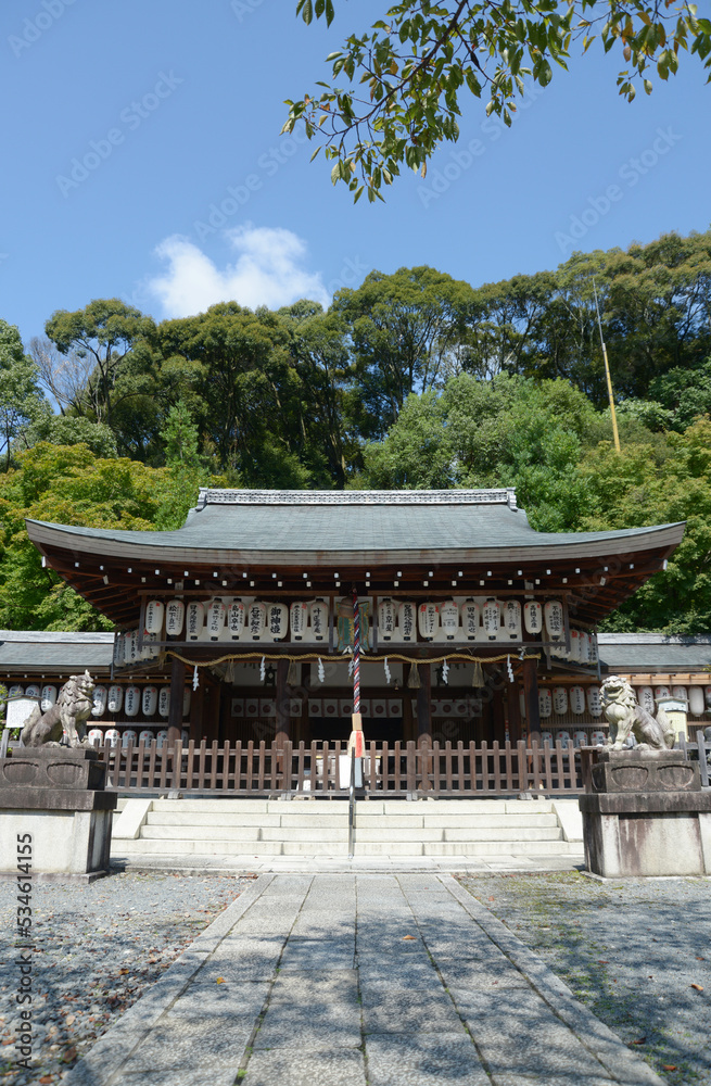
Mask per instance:
[[[447,874],[262,875],[65,1086],[624,1086],[644,1061]]]

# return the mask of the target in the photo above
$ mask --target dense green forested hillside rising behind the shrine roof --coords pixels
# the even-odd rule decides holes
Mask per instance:
[[[156,324],[97,300],[26,346],[0,319],[0,627],[101,627],[25,517],[173,528],[200,484],[512,485],[538,529],[687,520],[608,628],[711,631],[710,416],[711,231],[478,288],[373,272],[328,312],[225,302]]]

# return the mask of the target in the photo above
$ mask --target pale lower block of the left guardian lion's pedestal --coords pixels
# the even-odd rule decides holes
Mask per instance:
[[[93,875],[109,872],[113,811],[3,809],[0,872],[16,877],[29,860],[33,875]],[[31,834],[31,855],[17,856],[17,841]]]

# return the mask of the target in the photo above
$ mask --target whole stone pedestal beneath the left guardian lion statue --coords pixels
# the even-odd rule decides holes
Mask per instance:
[[[109,873],[115,792],[96,750],[21,747],[0,758],[0,876],[17,874],[17,841],[30,834],[33,875],[90,882]]]

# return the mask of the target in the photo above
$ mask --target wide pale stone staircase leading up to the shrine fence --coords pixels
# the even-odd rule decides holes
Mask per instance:
[[[367,800],[356,857],[567,856],[582,851],[575,800]],[[123,799],[113,857],[345,857],[345,800]],[[577,816],[577,818],[576,818]]]

